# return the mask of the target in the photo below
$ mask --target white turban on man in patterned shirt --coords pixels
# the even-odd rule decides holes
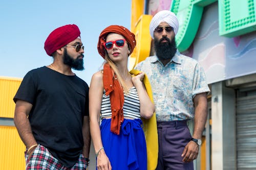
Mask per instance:
[[[154,30],[159,26],[161,22],[167,22],[170,27],[174,28],[175,35],[179,30],[179,21],[175,13],[163,10],[159,11],[150,22],[150,35],[154,39]]]

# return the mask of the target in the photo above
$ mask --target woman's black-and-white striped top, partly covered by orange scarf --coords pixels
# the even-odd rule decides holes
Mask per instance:
[[[104,90],[101,102],[101,118],[111,115],[110,96],[105,95]],[[140,101],[135,87],[129,89],[129,94],[124,94],[123,116],[135,119],[140,118]]]

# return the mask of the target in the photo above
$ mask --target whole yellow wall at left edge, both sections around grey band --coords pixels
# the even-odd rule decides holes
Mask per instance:
[[[13,118],[15,95],[22,79],[0,77],[0,118]],[[0,125],[0,169],[25,169],[25,145],[14,126]]]

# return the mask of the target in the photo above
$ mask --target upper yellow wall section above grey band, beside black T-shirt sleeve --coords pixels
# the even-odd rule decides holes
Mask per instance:
[[[19,78],[0,77],[0,117],[14,116],[13,96],[22,82]]]

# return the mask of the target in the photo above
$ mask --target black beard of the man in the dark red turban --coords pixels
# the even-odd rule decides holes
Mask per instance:
[[[80,56],[83,56],[81,54]],[[71,56],[68,54],[67,49],[64,49],[64,55],[63,55],[63,63],[70,66],[71,68],[75,70],[83,70],[83,59],[79,59],[78,57],[76,59],[71,58]]]

